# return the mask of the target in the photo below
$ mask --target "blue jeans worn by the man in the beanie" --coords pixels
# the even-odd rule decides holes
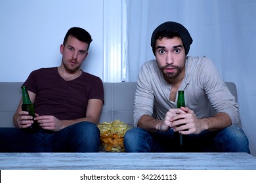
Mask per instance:
[[[244,131],[230,125],[221,131],[203,131],[199,135],[189,135],[186,152],[247,152],[249,141]],[[126,152],[182,152],[174,145],[174,132],[149,133],[135,127],[125,133]]]

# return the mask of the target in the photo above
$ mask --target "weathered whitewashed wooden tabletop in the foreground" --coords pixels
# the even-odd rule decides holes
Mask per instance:
[[[255,170],[246,153],[0,153],[0,169],[14,170]]]

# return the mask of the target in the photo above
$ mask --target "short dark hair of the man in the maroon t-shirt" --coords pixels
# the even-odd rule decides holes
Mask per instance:
[[[91,35],[85,31],[85,29],[82,29],[80,27],[72,27],[68,30],[68,32],[66,33],[65,37],[64,37],[64,41],[63,41],[63,45],[65,46],[68,37],[72,35],[73,37],[75,37],[76,39],[78,39],[79,41],[82,42],[86,42],[88,43],[88,48],[87,50],[89,50],[89,46],[91,44],[91,42],[93,41],[93,39],[91,38]]]

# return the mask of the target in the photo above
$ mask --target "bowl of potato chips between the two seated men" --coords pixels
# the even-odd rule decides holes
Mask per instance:
[[[103,152],[125,152],[123,137],[133,124],[126,124],[120,120],[98,124],[100,129],[100,146]]]

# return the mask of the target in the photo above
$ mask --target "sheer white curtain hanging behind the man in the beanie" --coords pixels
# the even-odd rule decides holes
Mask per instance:
[[[255,18],[255,0],[127,0],[126,80],[137,81],[140,66],[154,59],[154,29],[181,23],[194,39],[188,55],[211,58],[223,80],[236,84],[242,126],[256,156]]]

